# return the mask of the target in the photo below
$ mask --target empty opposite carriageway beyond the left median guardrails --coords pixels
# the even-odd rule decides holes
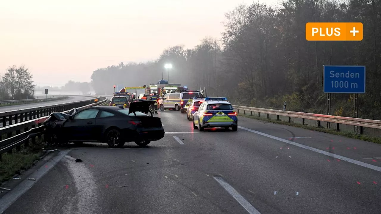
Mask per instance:
[[[95,96],[95,95],[94,95]],[[37,102],[37,103],[30,103],[30,104],[20,104],[20,105],[9,105],[9,106],[2,106],[0,107],[0,112],[6,112],[6,111],[12,111],[12,110],[18,110],[18,109],[27,109],[27,108],[34,108],[34,107],[41,107],[46,105],[56,105],[56,104],[63,104],[68,102],[76,102],[76,101],[83,101],[87,99],[91,99],[93,96],[69,96],[67,99],[58,100],[58,101],[49,101],[49,102]]]

